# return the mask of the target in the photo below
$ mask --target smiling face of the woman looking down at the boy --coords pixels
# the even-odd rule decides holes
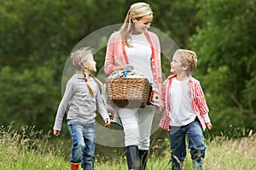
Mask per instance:
[[[133,17],[132,22],[135,27],[133,34],[142,34],[144,31],[147,31],[151,25],[152,20],[153,20],[152,14],[143,16],[141,19],[137,19],[136,17]]]

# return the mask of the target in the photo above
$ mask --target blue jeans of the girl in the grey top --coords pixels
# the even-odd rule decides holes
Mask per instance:
[[[84,170],[94,169],[94,151],[96,147],[95,123],[67,121],[73,140],[70,161],[81,163]]]

